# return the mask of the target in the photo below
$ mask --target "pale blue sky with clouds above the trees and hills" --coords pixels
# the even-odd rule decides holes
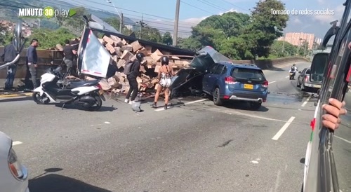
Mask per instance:
[[[144,21],[152,27],[157,27],[162,31],[173,32],[173,20],[176,12],[176,0],[111,0],[118,11],[132,20]],[[196,25],[202,19],[227,11],[237,11],[250,13],[249,9],[256,6],[258,0],[181,0],[180,1],[180,34],[189,35],[190,27]],[[111,11],[115,13],[112,4],[104,0],[72,0],[72,4],[89,6],[90,8]],[[213,2],[213,3],[211,3]],[[216,2],[216,3],[215,3]],[[283,0],[287,10],[294,9],[301,11],[306,8],[310,11],[317,11],[329,8],[334,11],[334,15],[291,15],[288,27],[284,32],[308,32],[322,38],[329,29],[329,22],[340,20],[343,13],[344,1],[333,0]],[[145,14],[142,14],[145,13]]]

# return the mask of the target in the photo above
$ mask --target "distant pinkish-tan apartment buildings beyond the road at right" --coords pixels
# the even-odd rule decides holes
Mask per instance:
[[[314,46],[314,34],[305,33],[286,33],[285,36],[279,37],[278,41],[286,41],[293,44],[294,46],[301,45],[304,41],[308,43],[308,49],[312,49]],[[320,40],[322,42],[322,39]]]

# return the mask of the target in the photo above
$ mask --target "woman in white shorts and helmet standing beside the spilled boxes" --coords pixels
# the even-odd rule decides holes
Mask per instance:
[[[153,108],[157,108],[157,100],[159,100],[159,94],[162,90],[164,90],[164,109],[167,109],[168,107],[169,87],[171,86],[171,77],[174,76],[173,68],[169,66],[168,63],[169,58],[162,56],[161,67],[159,68],[159,73],[157,75],[159,84],[157,85],[156,94],[154,95],[154,104],[152,104]]]

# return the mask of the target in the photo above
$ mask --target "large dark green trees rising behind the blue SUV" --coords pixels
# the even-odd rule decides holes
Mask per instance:
[[[259,1],[251,15],[237,12],[213,15],[192,27],[192,35],[179,41],[181,48],[199,50],[212,46],[236,60],[268,57],[274,40],[282,36],[288,15],[272,15],[283,10],[282,1]]]

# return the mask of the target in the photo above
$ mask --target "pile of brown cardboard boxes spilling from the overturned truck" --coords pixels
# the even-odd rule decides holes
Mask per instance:
[[[188,67],[192,57],[188,57],[187,60],[182,60],[177,55],[171,55],[168,53],[161,53],[160,50],[155,50],[152,53],[151,46],[141,46],[138,41],[128,44],[124,39],[120,39],[117,36],[104,36],[99,39],[100,43],[110,52],[111,60],[110,64],[117,65],[118,71],[123,71],[124,65],[136,59],[136,53],[144,53],[145,62],[140,67],[141,76],[138,77],[138,87],[140,92],[145,92],[150,89],[157,89],[157,72],[161,67],[160,59],[162,55],[167,55],[170,58],[169,65],[173,67],[175,72],[179,71],[183,67]],[[128,92],[129,85],[126,75],[123,72],[118,72],[115,76],[106,80],[100,81],[102,88],[106,91],[112,92]]]

